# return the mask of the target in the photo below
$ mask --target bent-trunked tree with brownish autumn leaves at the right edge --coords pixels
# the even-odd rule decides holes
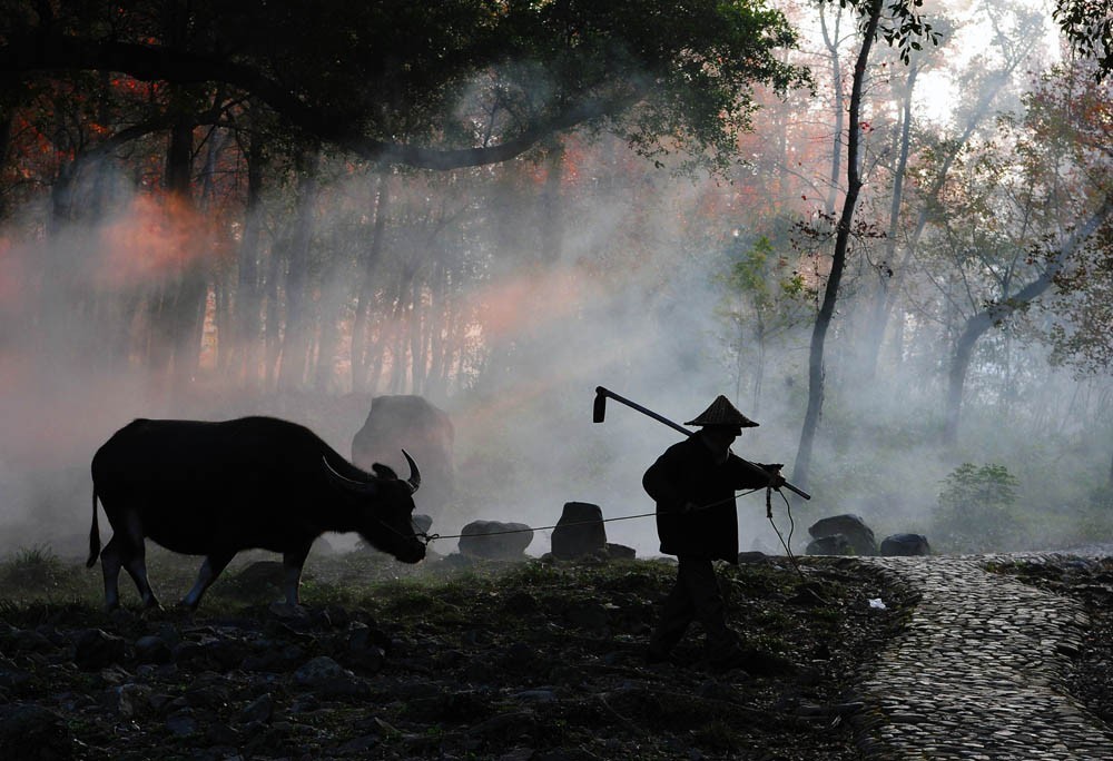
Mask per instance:
[[[954,444],[963,391],[977,342],[1007,323],[1054,287],[1071,284],[1071,273],[1085,267],[1092,238],[1113,218],[1109,182],[1110,107],[1107,88],[1083,88],[1071,71],[1055,70],[1025,98],[1024,120],[1003,120],[1002,139],[1009,158],[985,147],[972,166],[976,188],[965,213],[953,209],[943,221],[965,218],[967,231],[956,250],[974,313],[954,343],[945,403],[945,444]],[[1014,130],[1016,130],[1014,137]],[[969,199],[967,195],[958,198]],[[962,223],[959,223],[962,224]],[[1078,264],[1076,264],[1078,263]],[[966,268],[978,267],[981,277]],[[992,284],[993,293],[979,290]]]

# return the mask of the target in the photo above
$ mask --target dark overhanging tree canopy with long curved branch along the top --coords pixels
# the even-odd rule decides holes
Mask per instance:
[[[179,14],[177,0],[2,4],[10,78],[229,88],[356,156],[432,169],[504,161],[580,125],[650,157],[674,150],[668,135],[729,161],[754,82],[802,77],[775,56],[795,41],[782,14],[748,0],[201,0],[177,38],[149,21]]]

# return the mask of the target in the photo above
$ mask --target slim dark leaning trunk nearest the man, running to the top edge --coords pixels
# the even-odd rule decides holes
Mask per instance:
[[[811,347],[808,352],[808,408],[804,416],[800,447],[792,471],[792,481],[801,488],[808,483],[808,471],[811,467],[811,452],[815,446],[816,429],[819,427],[819,418],[823,414],[824,345],[835,315],[835,302],[838,298],[843,270],[846,266],[846,250],[850,239],[855,206],[858,204],[858,194],[861,190],[861,176],[858,172],[861,90],[866,79],[866,63],[869,61],[869,51],[873,48],[874,38],[877,33],[880,12],[881,0],[873,0],[869,7],[869,17],[863,30],[861,48],[858,50],[858,59],[854,67],[854,85],[850,90],[849,128],[847,129],[846,144],[846,197],[843,200],[843,211],[839,215],[838,228],[836,229],[835,251],[831,256],[831,269],[827,276],[827,286],[824,289],[824,300],[819,306],[819,314],[816,316],[816,324],[811,332]]]

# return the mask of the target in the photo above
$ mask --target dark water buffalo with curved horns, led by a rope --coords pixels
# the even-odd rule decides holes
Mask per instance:
[[[120,569],[147,606],[158,600],[147,581],[144,540],[204,555],[197,583],[181,604],[201,595],[240,550],[283,555],[286,602],[298,602],[306,555],[326,531],[357,532],[372,546],[417,563],[425,545],[414,535],[417,464],[405,452],[410,478],[374,465],[355,467],[316,434],[272,417],[220,423],[137,419],[116,432],[92,458],[89,561],[105,573],[105,604],[119,605]],[[97,497],[112,526],[100,550]]]

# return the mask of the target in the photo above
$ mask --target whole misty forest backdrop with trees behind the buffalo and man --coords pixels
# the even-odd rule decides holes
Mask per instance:
[[[380,394],[455,423],[436,531],[651,510],[598,385],[726,394],[798,525],[1109,542],[1103,4],[3,0],[3,544],[80,554],[134,417],[348,454]]]

